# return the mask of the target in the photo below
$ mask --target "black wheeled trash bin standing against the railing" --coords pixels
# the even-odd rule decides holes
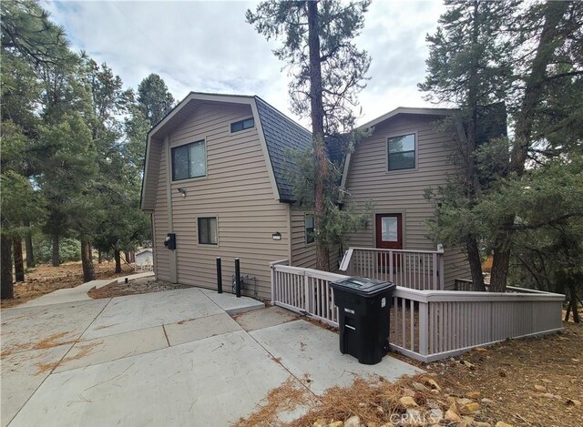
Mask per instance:
[[[389,310],[396,285],[348,278],[330,286],[340,315],[340,351],[366,365],[378,363],[388,351]]]

